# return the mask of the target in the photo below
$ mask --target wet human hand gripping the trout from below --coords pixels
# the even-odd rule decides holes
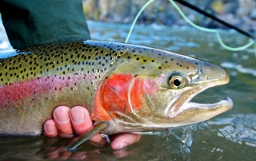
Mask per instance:
[[[54,109],[53,120],[46,120],[43,125],[43,133],[48,137],[59,135],[64,138],[72,138],[74,135],[80,135],[93,127],[90,114],[86,108],[75,106],[68,108],[59,106]],[[137,143],[141,135],[138,134],[118,134],[112,137],[111,147],[114,150],[127,147],[132,143]],[[106,140],[99,133],[90,138],[94,143],[104,144]]]

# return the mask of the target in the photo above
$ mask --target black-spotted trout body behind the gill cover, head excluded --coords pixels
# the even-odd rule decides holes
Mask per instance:
[[[121,55],[96,44],[38,45],[0,60],[0,133],[38,135],[58,105],[91,111],[99,82]]]

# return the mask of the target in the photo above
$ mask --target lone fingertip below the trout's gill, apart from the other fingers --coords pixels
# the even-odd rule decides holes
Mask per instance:
[[[138,134],[120,134],[114,137],[111,147],[114,150],[121,149],[122,147],[127,147],[132,143],[137,143],[141,138],[141,135]]]

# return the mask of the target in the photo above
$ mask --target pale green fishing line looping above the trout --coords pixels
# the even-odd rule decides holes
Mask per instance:
[[[246,45],[243,45],[243,46],[237,47],[237,48],[233,48],[233,47],[227,46],[227,45],[225,45],[225,44],[223,43],[223,41],[222,41],[222,39],[221,39],[221,37],[220,37],[220,35],[219,35],[219,33],[218,33],[218,30],[216,30],[216,29],[206,29],[206,28],[203,28],[203,27],[200,27],[200,26],[195,25],[193,22],[190,22],[190,20],[189,20],[188,18],[186,18],[185,14],[183,14],[182,10],[176,5],[176,3],[175,3],[173,0],[168,0],[168,1],[174,6],[174,8],[178,11],[178,13],[182,16],[182,18],[183,18],[188,24],[190,24],[190,26],[193,26],[193,27],[196,28],[196,29],[199,29],[199,30],[202,30],[202,31],[205,31],[205,32],[208,32],[208,33],[216,33],[216,37],[217,37],[217,39],[218,39],[218,43],[219,43],[220,45],[222,45],[222,47],[223,47],[224,49],[227,49],[227,50],[230,50],[230,51],[240,51],[240,50],[242,50],[242,49],[246,49],[246,48],[250,47],[250,45],[254,45],[254,54],[255,54],[255,57],[256,57],[256,44],[255,44],[255,41],[254,41],[254,40],[253,40],[253,41],[250,41],[250,42],[249,42],[248,44],[246,44]],[[127,37],[126,37],[125,43],[128,42],[128,40],[129,40],[129,38],[130,38],[130,34],[131,34],[132,30],[134,29],[134,25],[135,25],[135,23],[137,22],[139,15],[142,14],[142,11],[145,10],[145,9],[146,9],[146,6],[149,6],[151,2],[154,2],[154,0],[150,0],[149,2],[146,2],[146,4],[142,7],[142,9],[139,10],[139,12],[138,12],[136,18],[134,18],[134,22],[133,22],[132,26],[130,27],[130,31],[129,31]]]

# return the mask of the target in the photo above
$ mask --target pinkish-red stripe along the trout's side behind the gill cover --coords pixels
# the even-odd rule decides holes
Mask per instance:
[[[79,81],[91,81],[92,79],[94,77],[85,77],[83,74],[70,74],[69,76],[32,78],[27,81],[6,84],[0,86],[0,107],[14,107],[24,99],[33,99],[35,95],[47,94],[50,91],[60,92],[63,88],[75,86]]]

